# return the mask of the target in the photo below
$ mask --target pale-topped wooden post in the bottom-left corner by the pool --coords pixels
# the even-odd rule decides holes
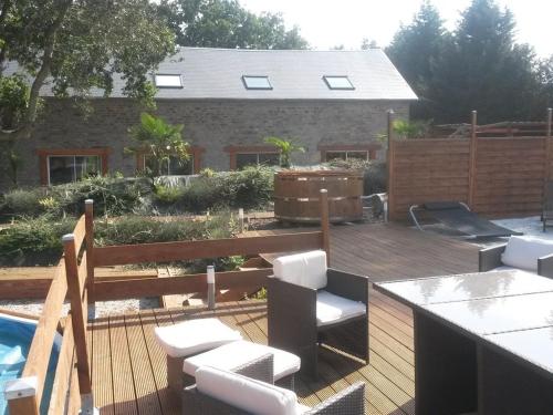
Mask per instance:
[[[8,401],[10,415],[39,415],[39,402],[36,401],[36,376],[20,377],[7,381],[3,385],[3,394]]]

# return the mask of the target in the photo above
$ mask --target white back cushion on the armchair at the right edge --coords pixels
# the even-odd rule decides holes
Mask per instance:
[[[553,253],[553,241],[535,237],[512,236],[507,242],[501,262],[505,266],[538,271],[538,258]]]

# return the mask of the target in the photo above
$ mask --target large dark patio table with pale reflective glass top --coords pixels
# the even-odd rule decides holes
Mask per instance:
[[[417,415],[553,414],[553,280],[490,271],[374,287],[413,309]]]

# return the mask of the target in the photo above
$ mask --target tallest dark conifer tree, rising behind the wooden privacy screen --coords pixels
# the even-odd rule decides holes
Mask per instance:
[[[530,46],[514,43],[514,29],[508,9],[501,10],[492,0],[472,1],[439,63],[438,118],[459,122],[474,108],[482,123],[532,116],[535,54]]]

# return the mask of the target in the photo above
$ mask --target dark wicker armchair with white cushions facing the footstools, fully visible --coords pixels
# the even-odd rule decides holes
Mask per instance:
[[[324,252],[323,252],[324,255]],[[282,257],[292,258],[298,256]],[[367,277],[326,269],[324,256],[325,282],[312,287],[293,283],[283,278],[268,279],[268,331],[271,346],[286,350],[302,360],[302,372],[317,377],[317,352],[320,344],[342,350],[368,363],[368,288]],[[319,267],[315,264],[315,268]],[[304,273],[304,280],[311,272],[310,266],[293,272]],[[275,268],[276,273],[276,268]],[[316,277],[315,277],[316,278]],[[319,289],[317,289],[319,288]],[[353,304],[362,312],[335,322],[322,321],[324,311],[323,297],[344,300],[345,307]]]

